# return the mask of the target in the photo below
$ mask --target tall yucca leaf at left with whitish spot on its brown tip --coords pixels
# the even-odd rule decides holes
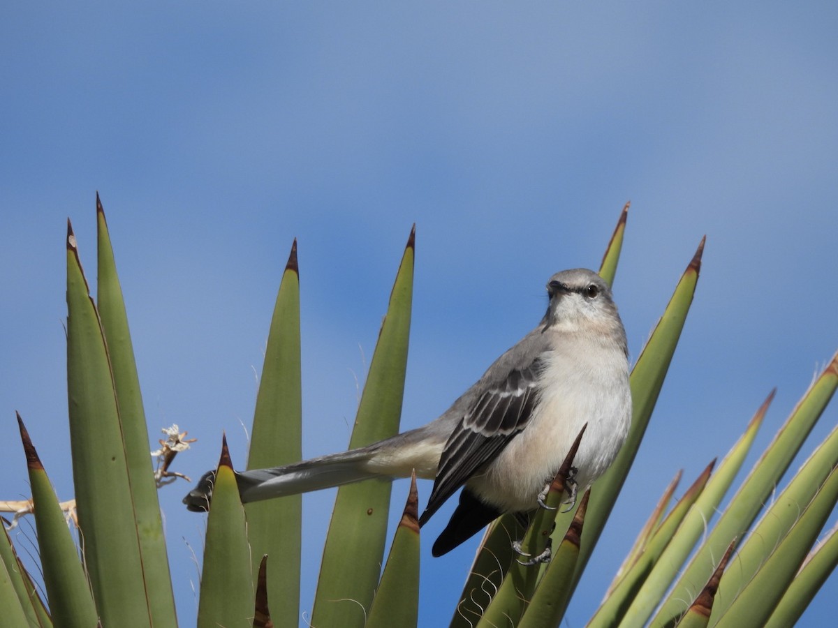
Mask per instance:
[[[85,567],[103,625],[124,625],[125,617],[151,625],[111,364],[70,221],[67,310],[70,446]]]

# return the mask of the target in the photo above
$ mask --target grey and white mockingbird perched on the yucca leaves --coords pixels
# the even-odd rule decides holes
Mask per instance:
[[[623,323],[603,279],[564,270],[547,282],[546,314],[431,423],[380,442],[272,469],[237,471],[242,502],[373,477],[432,479],[423,525],[462,486],[433,544],[441,556],[505,512],[532,511],[587,424],[574,461],[577,486],[608,469],[629,433],[631,392]],[[214,472],[184,498],[204,511]]]

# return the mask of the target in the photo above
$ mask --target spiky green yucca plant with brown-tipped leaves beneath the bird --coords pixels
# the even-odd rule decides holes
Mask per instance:
[[[97,302],[90,297],[69,225],[66,242],[70,447],[80,543],[76,544],[65,523],[44,466],[18,417],[43,578],[34,579],[23,569],[8,535],[3,534],[2,625],[177,624],[155,490],[162,471],[155,476],[147,453],[147,426],[127,316],[98,197],[96,205]],[[600,269],[609,283],[617,268],[627,209],[623,209]],[[411,230],[370,363],[350,447],[398,430],[414,248]],[[634,420],[618,460],[572,512],[540,511],[528,531],[519,528],[515,517],[495,521],[485,533],[473,565],[463,574],[466,582],[461,602],[452,610],[452,626],[559,625],[649,424],[696,289],[702,250],[703,240],[634,365]],[[282,465],[301,457],[299,322],[295,241],[272,318],[248,468]],[[732,486],[770,396],[716,471],[711,473],[713,465],[708,466],[670,508],[676,478],[651,513],[589,625],[794,625],[838,562],[834,531],[812,549],[838,499],[838,430],[821,443],[768,508],[763,504],[836,385],[838,355],[801,399],[709,530],[707,522]],[[185,446],[183,438],[177,430],[170,434],[171,443],[161,453],[167,464]],[[233,456],[220,440],[198,623],[296,626],[303,524],[300,497],[243,507],[232,473]],[[561,480],[560,473],[548,502],[561,501]],[[391,485],[385,482],[361,482],[339,489],[311,625],[417,625],[420,535],[416,482],[411,482],[385,561],[390,501]],[[763,517],[754,526],[760,512]],[[538,553],[550,536],[554,548],[550,564],[523,566],[515,562],[511,538],[524,538],[525,548]]]

